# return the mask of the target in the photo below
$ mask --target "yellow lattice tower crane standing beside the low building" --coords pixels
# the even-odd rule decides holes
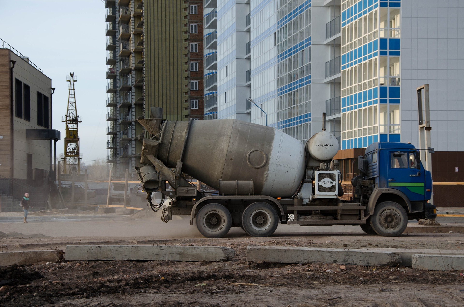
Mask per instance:
[[[74,91],[74,82],[77,77],[74,73],[69,73],[66,77],[69,82],[68,109],[63,116],[63,122],[66,123],[66,136],[64,138],[64,158],[63,173],[79,175],[81,173],[81,157],[79,153],[79,136],[77,134],[77,124],[82,122],[82,118],[77,116],[76,93]]]

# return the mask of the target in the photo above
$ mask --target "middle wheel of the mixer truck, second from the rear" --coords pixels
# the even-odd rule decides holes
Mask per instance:
[[[277,212],[269,204],[253,203],[243,211],[243,230],[251,237],[269,237],[276,231],[278,224]]]

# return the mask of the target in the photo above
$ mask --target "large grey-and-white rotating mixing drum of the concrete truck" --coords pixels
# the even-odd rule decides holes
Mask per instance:
[[[144,127],[147,121],[139,120]],[[304,145],[280,130],[235,119],[190,125],[182,172],[215,189],[219,179],[252,179],[255,195],[290,197],[303,180]],[[188,122],[165,122],[157,158],[166,166],[176,167],[187,127]]]

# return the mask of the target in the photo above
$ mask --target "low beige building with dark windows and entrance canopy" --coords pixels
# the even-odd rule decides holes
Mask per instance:
[[[54,180],[52,79],[0,39],[0,211],[25,192],[44,207]],[[16,211],[16,210],[14,210]]]

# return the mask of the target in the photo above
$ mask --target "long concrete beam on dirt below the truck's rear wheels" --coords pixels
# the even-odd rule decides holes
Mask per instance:
[[[66,260],[227,261],[235,250],[222,246],[68,245]]]

